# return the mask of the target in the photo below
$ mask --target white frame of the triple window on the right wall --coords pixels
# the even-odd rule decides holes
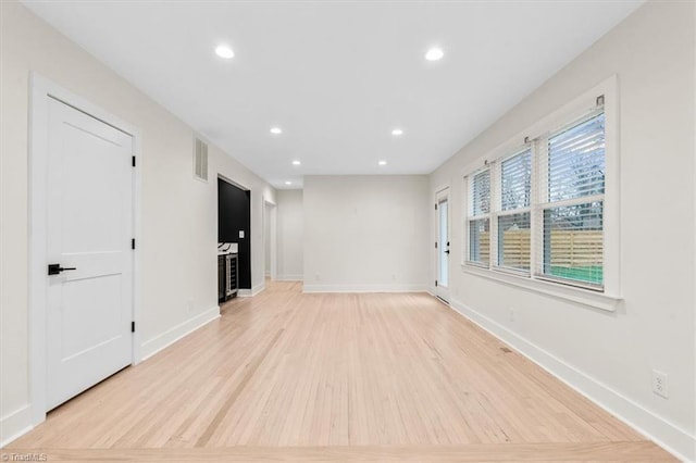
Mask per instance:
[[[599,100],[601,99],[601,101]],[[598,103],[602,103],[598,110]],[[573,99],[569,103],[552,111],[547,116],[537,121],[515,137],[508,139],[487,155],[471,162],[462,170],[463,196],[465,209],[463,211],[463,239],[464,253],[461,262],[462,271],[486,278],[507,283],[512,286],[556,296],[561,299],[572,300],[589,306],[613,311],[621,300],[621,275],[620,275],[620,151],[619,151],[619,114],[618,114],[618,89],[617,77],[611,76]],[[605,192],[599,195],[602,202],[602,268],[604,286],[601,288],[592,284],[583,284],[581,280],[566,278],[554,278],[537,272],[543,261],[543,215],[544,210],[563,205],[567,201],[550,202],[545,199],[544,188],[547,187],[548,179],[539,178],[543,175],[540,162],[547,160],[548,138],[560,132],[592,118],[604,112],[605,114]],[[593,114],[594,113],[594,114]],[[532,149],[532,197],[530,208],[520,208],[502,211],[500,189],[501,189],[501,165],[502,162],[517,155],[531,147]],[[490,168],[490,256],[488,266],[480,263],[472,263],[469,256],[469,222],[470,209],[470,184],[473,175],[484,168]],[[586,196],[569,202],[592,202],[598,197]],[[530,271],[522,271],[505,266],[498,266],[498,217],[507,214],[530,211]]]

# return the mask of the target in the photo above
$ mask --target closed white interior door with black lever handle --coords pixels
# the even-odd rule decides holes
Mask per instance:
[[[132,136],[52,98],[48,130],[51,410],[132,363],[134,151]]]

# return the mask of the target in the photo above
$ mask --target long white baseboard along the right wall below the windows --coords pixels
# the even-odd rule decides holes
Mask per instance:
[[[689,435],[686,429],[667,422],[621,392],[601,384],[462,302],[451,300],[450,306],[680,460],[696,460],[696,436]]]

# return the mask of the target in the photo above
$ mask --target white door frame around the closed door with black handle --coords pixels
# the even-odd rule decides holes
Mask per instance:
[[[28,124],[28,386],[29,405],[32,408],[32,425],[46,420],[47,408],[47,317],[46,317],[46,264],[47,264],[47,217],[46,187],[48,166],[48,121],[49,102],[58,100],[104,124],[108,124],[133,137],[133,150],[136,167],[133,170],[133,226],[136,243],[140,242],[141,233],[141,174],[142,150],[140,132],[137,127],[122,121],[108,111],[92,104],[64,89],[48,78],[29,73],[29,124]],[[140,246],[133,251],[133,321],[136,327],[141,320],[141,254]],[[140,330],[136,329],[132,337],[132,365],[140,361]]]

